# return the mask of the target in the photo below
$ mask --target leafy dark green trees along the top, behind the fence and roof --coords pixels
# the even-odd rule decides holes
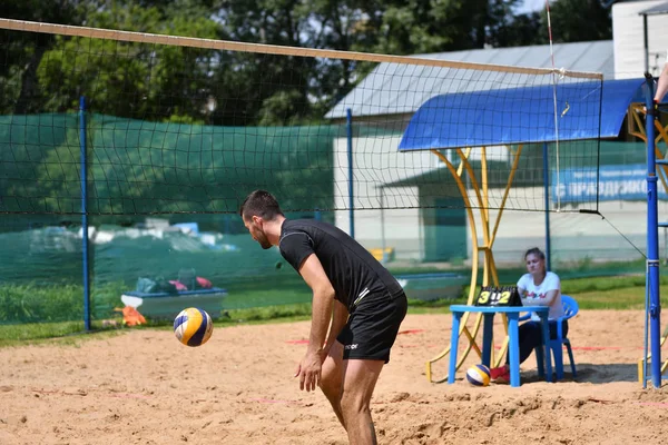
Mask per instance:
[[[16,3],[16,4],[14,4]],[[520,0],[28,0],[4,17],[158,34],[414,55],[544,43]],[[551,3],[554,41],[607,39],[597,0]],[[226,126],[315,122],[375,63],[0,31],[0,113],[68,111]]]

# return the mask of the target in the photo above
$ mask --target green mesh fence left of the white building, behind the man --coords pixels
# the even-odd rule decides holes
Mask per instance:
[[[92,318],[112,316],[139,278],[176,280],[184,268],[225,289],[225,309],[310,300],[277,250],[247,235],[237,205],[266,187],[288,208],[332,207],[322,197],[333,195],[341,126],[214,128],[92,115],[87,130]],[[0,323],[81,319],[78,117],[0,118]]]

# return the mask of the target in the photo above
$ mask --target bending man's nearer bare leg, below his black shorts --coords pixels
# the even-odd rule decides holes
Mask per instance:
[[[384,364],[383,360],[343,360],[341,411],[352,445],[377,444],[370,405]]]

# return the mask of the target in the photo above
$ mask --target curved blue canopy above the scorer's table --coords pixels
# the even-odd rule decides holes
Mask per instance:
[[[557,86],[559,140],[615,138],[645,79]],[[399,149],[429,150],[557,140],[554,88],[511,88],[441,95],[411,118]],[[602,97],[601,97],[602,95]]]

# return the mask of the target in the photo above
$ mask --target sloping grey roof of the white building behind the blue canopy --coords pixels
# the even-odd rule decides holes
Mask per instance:
[[[557,68],[601,72],[606,79],[613,78],[612,40],[557,43],[553,44],[553,51]],[[549,44],[475,49],[414,57],[464,63],[552,68]],[[382,62],[332,108],[325,118],[345,118],[348,108],[353,118],[412,113],[426,100],[438,95],[530,87],[549,82],[551,82],[549,76]]]

